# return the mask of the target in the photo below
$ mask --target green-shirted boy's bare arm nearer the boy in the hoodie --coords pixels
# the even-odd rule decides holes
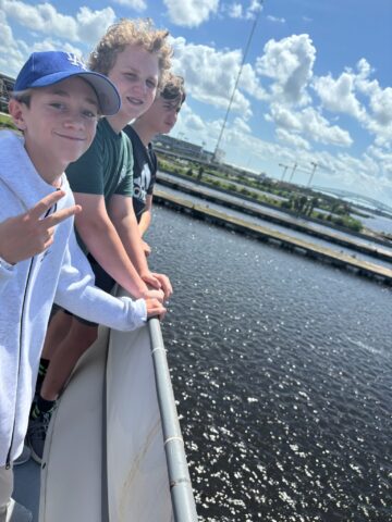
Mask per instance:
[[[74,192],[83,212],[75,219],[79,236],[98,263],[134,297],[162,298],[160,291],[148,290],[125,251],[100,195]],[[157,285],[155,285],[157,286]]]

